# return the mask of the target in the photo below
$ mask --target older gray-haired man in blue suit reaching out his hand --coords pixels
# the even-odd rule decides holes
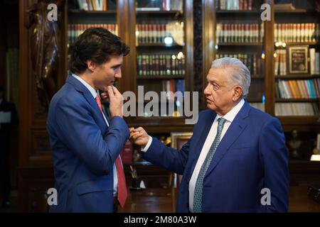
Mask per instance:
[[[250,72],[242,62],[213,61],[202,111],[181,150],[163,145],[143,128],[130,128],[142,157],[183,175],[178,212],[285,212],[288,155],[279,121],[245,101]]]

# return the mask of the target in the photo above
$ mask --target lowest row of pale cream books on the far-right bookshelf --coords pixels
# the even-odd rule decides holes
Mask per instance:
[[[276,103],[274,112],[276,116],[319,116],[319,107],[310,102]]]

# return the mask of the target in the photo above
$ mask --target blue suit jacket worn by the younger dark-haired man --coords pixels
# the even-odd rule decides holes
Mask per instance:
[[[51,212],[113,211],[113,165],[129,129],[117,116],[109,123],[107,127],[90,91],[69,76],[48,113],[58,190],[58,205],[50,206]]]

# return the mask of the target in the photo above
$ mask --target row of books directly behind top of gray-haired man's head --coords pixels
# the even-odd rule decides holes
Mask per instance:
[[[235,57],[243,62],[250,71],[250,74],[260,74],[262,71],[261,67],[261,57],[255,53],[248,54],[217,54],[215,55],[215,59],[221,57]]]

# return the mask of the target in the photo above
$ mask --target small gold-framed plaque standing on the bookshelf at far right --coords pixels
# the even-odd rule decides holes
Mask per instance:
[[[289,46],[289,74],[308,73],[309,46]]]

